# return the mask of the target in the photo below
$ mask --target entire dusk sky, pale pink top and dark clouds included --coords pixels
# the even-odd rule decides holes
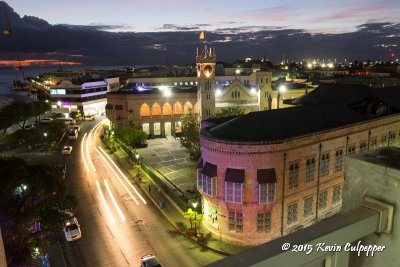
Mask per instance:
[[[4,4],[0,25],[6,27]],[[198,33],[218,60],[278,61],[398,56],[400,0],[183,1],[10,0],[21,58],[82,64],[180,64],[194,61]],[[15,13],[14,13],[15,12]],[[25,17],[24,17],[25,16]],[[8,40],[7,40],[8,38]],[[12,60],[10,36],[0,59]]]

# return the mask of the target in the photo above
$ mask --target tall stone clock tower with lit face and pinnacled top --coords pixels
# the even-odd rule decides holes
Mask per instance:
[[[197,101],[199,106],[199,121],[215,115],[215,48],[197,48]]]

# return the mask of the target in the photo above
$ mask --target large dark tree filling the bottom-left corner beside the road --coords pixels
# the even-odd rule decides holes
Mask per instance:
[[[27,165],[18,158],[0,158],[0,227],[7,264],[37,264],[50,238],[59,234],[76,199],[65,180],[47,165]]]

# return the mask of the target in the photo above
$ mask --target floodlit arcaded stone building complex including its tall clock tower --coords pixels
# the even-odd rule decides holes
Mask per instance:
[[[111,127],[135,124],[152,137],[168,136],[180,132],[180,117],[189,108],[201,121],[228,107],[248,113],[277,106],[271,71],[262,66],[216,76],[216,51],[207,45],[197,49],[195,76],[190,69],[185,73],[189,75],[148,77],[146,72],[145,77],[130,78],[126,88],[107,93]],[[298,91],[295,96],[303,94]]]

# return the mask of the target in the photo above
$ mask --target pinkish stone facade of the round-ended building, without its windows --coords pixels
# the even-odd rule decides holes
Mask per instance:
[[[204,226],[212,233],[225,239],[227,242],[242,245],[256,245],[270,241],[281,235],[282,223],[282,184],[285,184],[285,194],[283,203],[283,233],[288,234],[297,229],[307,227],[317,221],[316,207],[313,216],[304,218],[304,198],[313,196],[313,205],[317,204],[317,191],[328,191],[328,205],[318,211],[318,220],[330,217],[341,209],[341,203],[332,203],[333,187],[341,185],[343,190],[344,172],[334,172],[335,152],[343,149],[343,155],[349,145],[355,145],[355,153],[360,151],[360,143],[377,138],[378,145],[382,136],[388,132],[396,133],[396,140],[400,130],[400,115],[371,120],[366,123],[358,123],[322,131],[308,136],[299,136],[280,142],[264,142],[264,144],[251,142],[238,143],[219,141],[201,136],[203,161],[208,161],[217,165],[217,197],[208,197],[203,194],[204,202],[216,206],[218,211],[218,225],[211,224],[207,220]],[[321,144],[321,154],[329,153],[329,175],[320,177],[317,181],[318,159],[320,157],[319,146]],[[387,146],[388,142],[383,143]],[[284,163],[284,153],[286,159]],[[305,162],[309,157],[316,158],[315,179],[313,182],[305,182]],[[288,187],[289,166],[292,162],[299,163],[299,185],[294,189]],[[245,170],[245,182],[243,185],[243,204],[225,203],[225,171],[227,168],[238,168]],[[275,203],[267,207],[259,205],[257,202],[257,169],[275,168],[277,184],[275,191]],[[201,188],[199,189],[202,193]],[[298,203],[298,220],[290,225],[287,224],[287,210],[291,203]],[[240,209],[244,216],[244,230],[237,233],[228,229],[229,209]],[[256,216],[257,212],[263,209],[272,210],[272,228],[269,233],[257,233]],[[207,212],[207,209],[205,209]],[[207,218],[208,214],[205,214]]]

